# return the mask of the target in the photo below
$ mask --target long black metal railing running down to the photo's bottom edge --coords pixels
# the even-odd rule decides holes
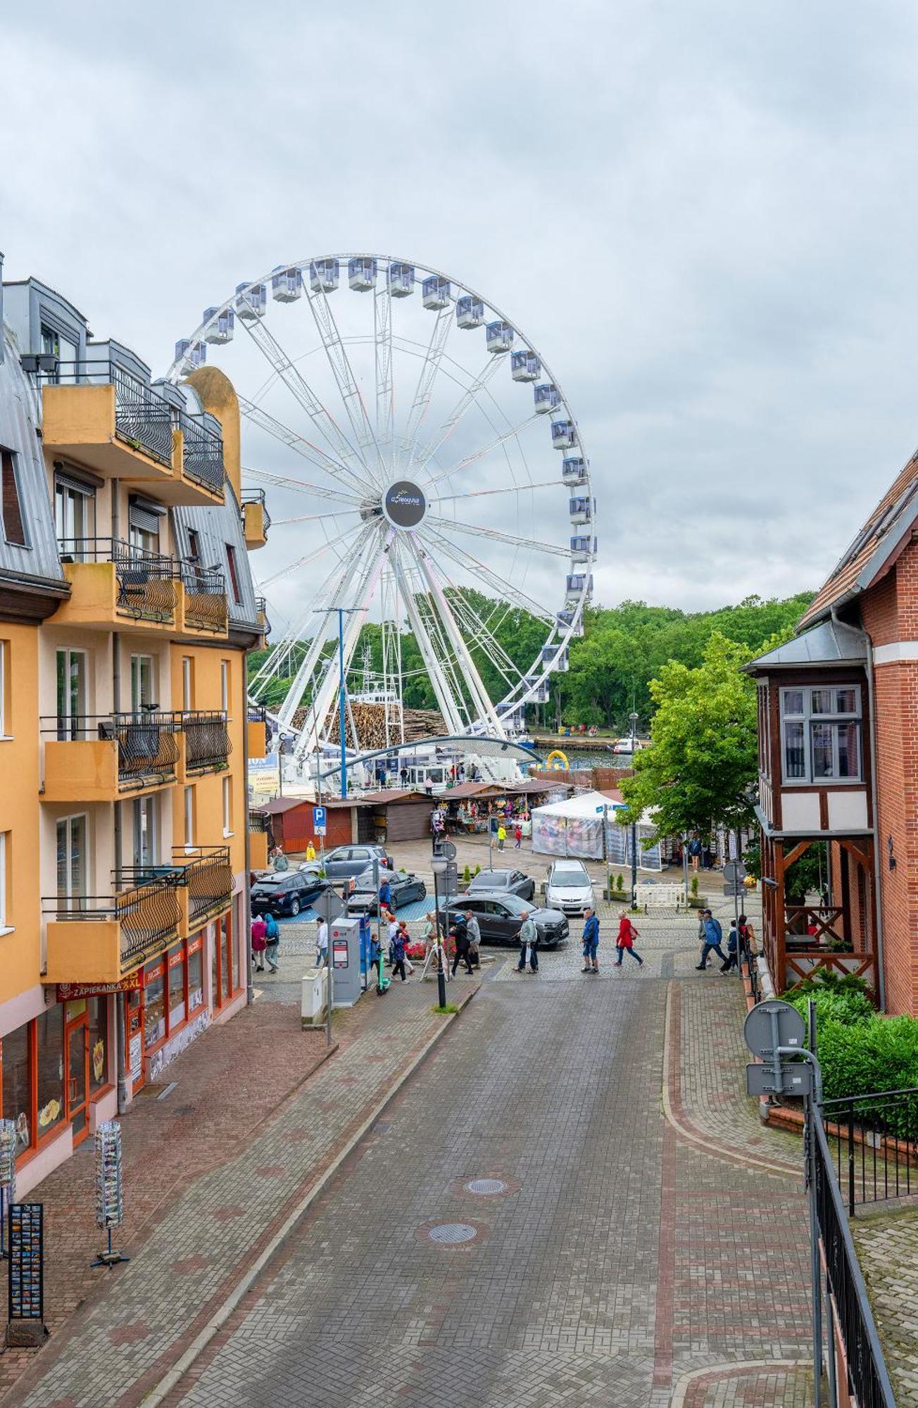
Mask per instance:
[[[838,1331],[845,1345],[848,1387],[860,1408],[895,1408],[825,1131],[819,1119],[811,1119],[810,1126],[815,1139],[817,1221]]]

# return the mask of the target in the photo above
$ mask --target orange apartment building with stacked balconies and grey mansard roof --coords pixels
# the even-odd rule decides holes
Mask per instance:
[[[246,1001],[246,650],[230,382],[152,382],[1,284],[0,1102],[18,1191]]]

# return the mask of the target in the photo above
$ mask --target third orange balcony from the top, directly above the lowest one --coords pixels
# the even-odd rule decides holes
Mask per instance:
[[[113,803],[177,780],[180,714],[42,718],[44,801]]]

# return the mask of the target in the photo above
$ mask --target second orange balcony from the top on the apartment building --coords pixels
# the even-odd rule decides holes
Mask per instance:
[[[179,628],[182,567],[173,558],[120,538],[59,538],[58,551],[70,596],[58,607],[55,625]]]

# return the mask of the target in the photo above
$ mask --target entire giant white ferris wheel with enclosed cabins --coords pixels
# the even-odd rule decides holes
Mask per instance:
[[[270,487],[259,589],[287,627],[249,689],[290,679],[270,717],[300,772],[337,727],[339,653],[386,746],[418,700],[448,735],[513,738],[567,669],[597,549],[580,431],[535,344],[446,273],[339,253],[238,284],[169,377],[208,356],[239,397],[244,477]],[[358,734],[355,753],[379,746]]]

